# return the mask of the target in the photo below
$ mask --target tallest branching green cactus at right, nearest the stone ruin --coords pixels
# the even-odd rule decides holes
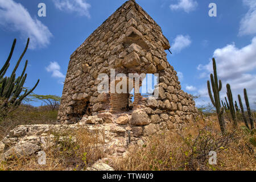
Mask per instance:
[[[207,81],[207,86],[208,86],[208,93],[210,100],[212,101],[212,104],[214,107],[216,107],[217,115],[218,115],[218,122],[220,123],[220,129],[221,133],[225,134],[225,122],[224,122],[224,107],[221,107],[220,104],[220,91],[222,88],[221,80],[218,81],[217,77],[217,68],[216,68],[216,61],[213,58],[213,74],[210,74],[210,81],[212,82],[212,90],[210,89],[210,81]],[[213,96],[212,96],[212,91],[213,91]]]

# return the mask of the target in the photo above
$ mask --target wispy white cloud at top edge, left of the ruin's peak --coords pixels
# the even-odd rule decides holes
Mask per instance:
[[[53,0],[55,7],[61,11],[69,13],[77,13],[80,16],[87,16],[90,18],[89,8],[90,4],[86,0]]]

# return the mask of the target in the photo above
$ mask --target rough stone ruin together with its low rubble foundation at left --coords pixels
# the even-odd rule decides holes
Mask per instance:
[[[0,141],[0,161],[47,150],[58,144],[52,135],[56,132],[62,136],[63,131],[81,128],[92,135],[104,131],[101,138],[108,156],[124,156],[130,144],[142,146],[152,134],[184,127],[197,109],[167,61],[169,48],[158,24],[134,0],[125,2],[71,55],[57,118],[63,125],[15,127]],[[132,102],[131,90],[98,93],[98,75],[110,76],[112,68],[115,75],[158,73],[158,99],[137,93]]]

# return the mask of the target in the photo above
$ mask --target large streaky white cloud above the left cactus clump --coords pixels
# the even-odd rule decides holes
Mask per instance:
[[[0,25],[7,30],[20,32],[23,39],[30,38],[30,48],[46,47],[52,36],[48,27],[30,13],[20,3],[0,0]]]

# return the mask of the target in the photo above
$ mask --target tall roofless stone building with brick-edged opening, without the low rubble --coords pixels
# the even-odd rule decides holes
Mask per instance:
[[[158,24],[134,0],[125,2],[71,55],[58,121],[113,125],[117,133],[140,138],[181,129],[197,115],[195,101],[181,90],[167,61],[170,43]],[[159,97],[149,100],[130,90],[98,93],[100,73],[158,73]],[[129,132],[126,132],[129,131]]]

